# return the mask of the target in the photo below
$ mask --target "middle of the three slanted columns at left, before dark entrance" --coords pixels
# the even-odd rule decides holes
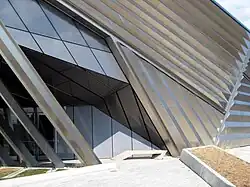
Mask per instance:
[[[64,164],[61,161],[61,159],[56,155],[53,148],[49,145],[46,139],[41,135],[41,133],[36,129],[36,127],[30,121],[30,119],[25,114],[23,109],[19,106],[19,104],[16,102],[12,94],[5,87],[2,80],[0,80],[0,96],[2,97],[4,102],[8,105],[8,107],[13,112],[13,114],[15,114],[15,116],[23,125],[25,130],[34,139],[36,144],[41,148],[43,153],[55,165],[55,167],[58,167],[58,168],[64,167]]]

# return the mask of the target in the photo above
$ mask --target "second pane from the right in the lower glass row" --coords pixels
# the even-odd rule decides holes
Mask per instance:
[[[65,42],[65,44],[79,66],[104,74],[89,48],[67,42]]]

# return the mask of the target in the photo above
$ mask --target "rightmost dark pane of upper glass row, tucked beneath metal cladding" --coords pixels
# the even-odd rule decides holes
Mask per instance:
[[[90,47],[110,52],[103,38],[78,23],[76,25]]]

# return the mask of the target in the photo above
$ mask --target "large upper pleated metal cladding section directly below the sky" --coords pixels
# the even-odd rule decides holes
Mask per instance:
[[[225,109],[249,33],[211,1],[57,0],[58,4]]]

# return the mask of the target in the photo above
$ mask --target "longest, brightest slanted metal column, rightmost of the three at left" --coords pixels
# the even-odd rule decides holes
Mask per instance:
[[[85,165],[99,164],[100,161],[88,142],[2,23],[0,54],[77,158]]]

